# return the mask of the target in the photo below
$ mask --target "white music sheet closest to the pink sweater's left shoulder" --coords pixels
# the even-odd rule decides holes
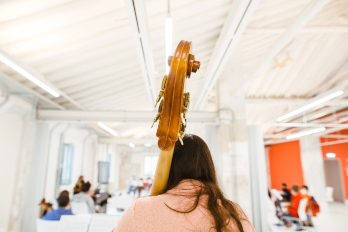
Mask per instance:
[[[119,216],[94,214],[88,232],[110,232],[117,225]]]

